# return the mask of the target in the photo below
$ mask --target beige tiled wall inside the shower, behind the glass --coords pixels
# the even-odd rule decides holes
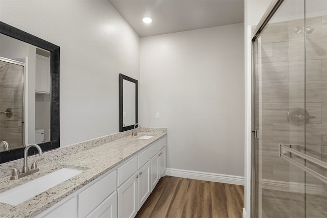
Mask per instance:
[[[306,19],[306,27],[315,28],[306,39],[303,31],[293,31],[304,23],[303,19],[275,22],[261,37],[262,98],[258,104],[262,107],[264,180],[304,182],[303,171],[278,157],[278,143],[301,151],[306,144],[307,154],[327,161],[327,16]],[[289,124],[288,112],[305,107],[315,118],[306,126]],[[323,173],[310,163],[307,166]],[[306,182],[317,183],[317,179],[307,175]]]

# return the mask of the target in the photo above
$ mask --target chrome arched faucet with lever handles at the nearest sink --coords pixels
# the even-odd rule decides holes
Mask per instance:
[[[34,147],[39,151],[39,156],[42,155],[42,149],[37,144],[29,144],[29,146],[25,147],[25,149],[24,149],[24,166],[22,167],[22,172],[20,173],[16,167],[9,168],[12,170],[10,180],[20,179],[22,177],[34,174],[39,171],[39,168],[37,167],[36,162],[39,160],[42,160],[43,158],[34,161],[31,165],[31,169],[29,169],[29,167],[27,165],[27,153],[31,147]],[[4,170],[8,170],[8,169],[2,169],[2,171],[4,171]]]

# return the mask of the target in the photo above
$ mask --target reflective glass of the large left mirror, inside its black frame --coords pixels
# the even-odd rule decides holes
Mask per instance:
[[[0,152],[50,141],[50,55],[0,34]]]

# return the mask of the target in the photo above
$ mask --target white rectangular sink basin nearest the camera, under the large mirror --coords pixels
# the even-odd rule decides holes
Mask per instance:
[[[58,169],[48,175],[1,193],[0,202],[16,206],[82,172],[82,170],[72,168]]]

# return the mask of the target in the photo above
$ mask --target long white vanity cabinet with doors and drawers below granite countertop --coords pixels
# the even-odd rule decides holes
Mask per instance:
[[[166,137],[37,217],[134,217],[166,174]]]

